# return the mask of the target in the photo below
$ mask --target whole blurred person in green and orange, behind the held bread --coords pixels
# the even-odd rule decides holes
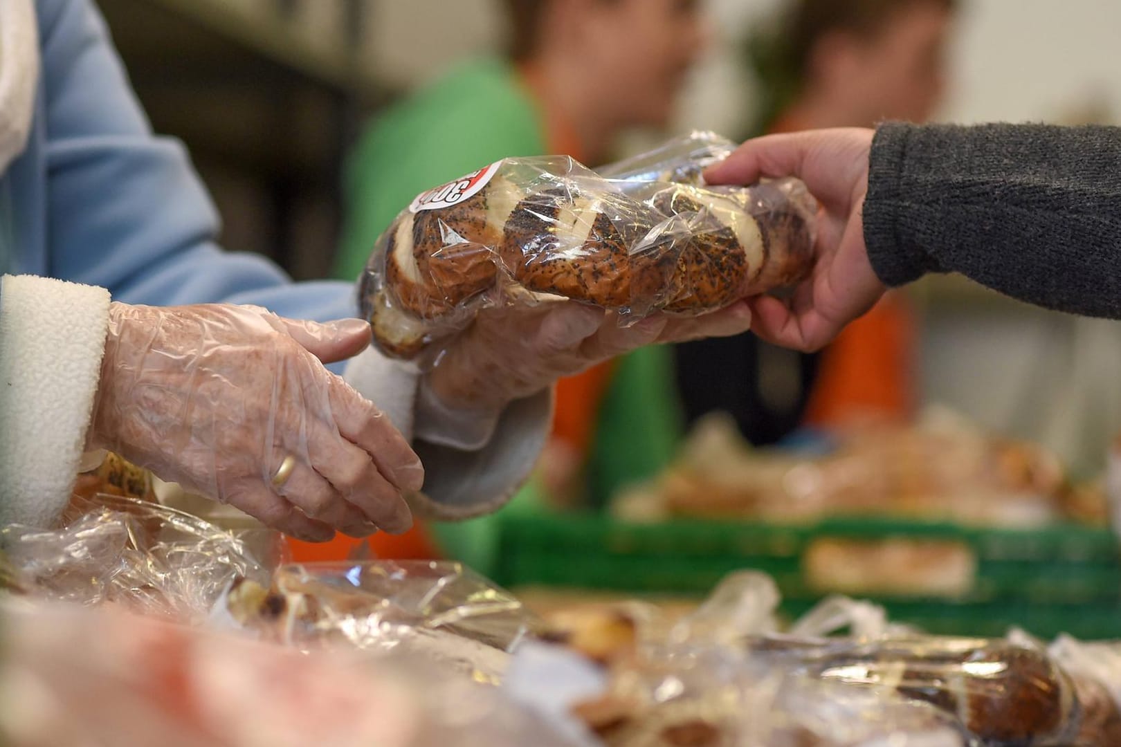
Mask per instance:
[[[458,65],[378,116],[361,138],[345,184],[340,278],[362,271],[378,235],[425,189],[511,156],[567,155],[594,168],[623,131],[665,127],[704,45],[700,0],[503,6],[511,39],[503,56]],[[610,468],[646,475],[669,459],[680,426],[667,356],[643,348],[559,382],[540,471],[549,493],[574,484],[597,419],[624,433],[621,450],[602,447],[613,454]],[[609,387],[624,396],[612,398]],[[448,554],[487,570],[492,521],[435,529]]]

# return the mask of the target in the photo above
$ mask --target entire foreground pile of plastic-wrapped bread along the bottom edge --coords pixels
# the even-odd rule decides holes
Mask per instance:
[[[680,618],[541,618],[456,563],[269,572],[232,535],[128,498],[0,547],[21,590],[0,595],[17,746],[1121,744],[1121,647],[932,637],[844,598],[784,632],[756,572]]]

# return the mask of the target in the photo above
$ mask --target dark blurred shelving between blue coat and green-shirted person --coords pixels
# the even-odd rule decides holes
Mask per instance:
[[[184,141],[214,196],[223,244],[327,274],[345,149],[386,96],[361,62],[368,3],[99,6],[154,129]]]

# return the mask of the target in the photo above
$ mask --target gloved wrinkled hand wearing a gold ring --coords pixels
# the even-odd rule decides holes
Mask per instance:
[[[356,319],[112,304],[87,446],[300,539],[404,532],[411,516],[401,491],[420,488],[420,461],[387,417],[322,365],[369,342]],[[276,486],[287,456],[295,468]]]

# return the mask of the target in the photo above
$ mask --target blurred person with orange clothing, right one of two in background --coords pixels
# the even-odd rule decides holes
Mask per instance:
[[[945,90],[955,0],[796,0],[748,56],[759,81],[753,132],[923,122]],[[803,426],[843,428],[904,419],[915,393],[915,321],[889,293],[821,353],[797,353],[753,334],[678,345],[686,419],[732,413],[756,445]]]

